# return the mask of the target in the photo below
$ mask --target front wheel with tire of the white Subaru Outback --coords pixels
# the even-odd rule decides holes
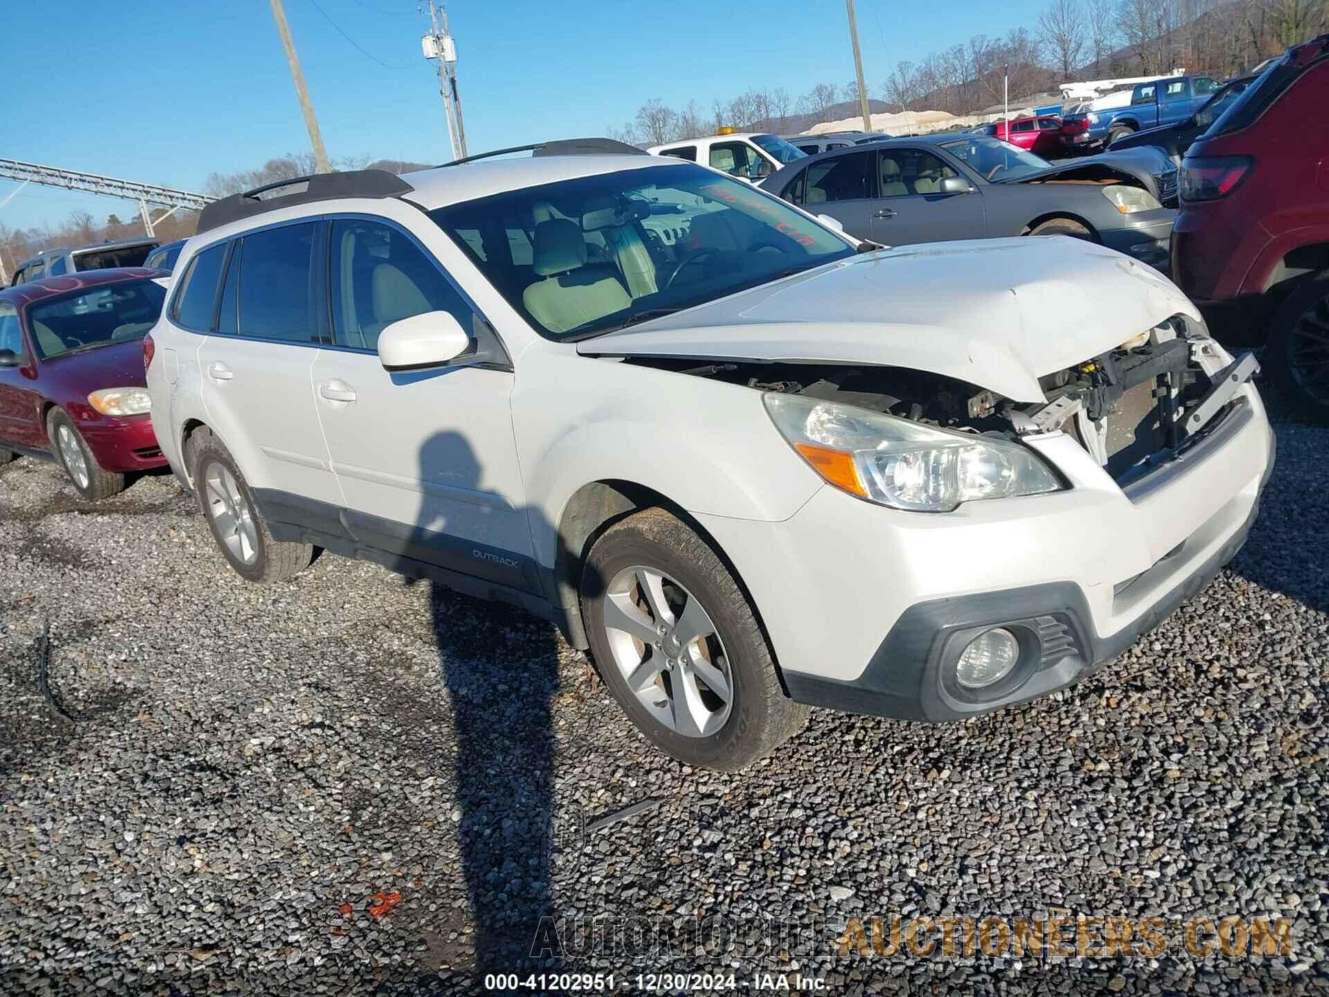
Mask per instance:
[[[607,529],[586,558],[581,593],[605,683],[667,755],[738,771],[807,723],[808,707],[784,695],[771,647],[734,576],[664,509],[645,509]],[[655,609],[662,601],[663,613]],[[686,633],[675,634],[674,625]],[[687,639],[694,631],[700,637]],[[682,646],[672,643],[679,637]],[[719,694],[726,685],[727,701]]]

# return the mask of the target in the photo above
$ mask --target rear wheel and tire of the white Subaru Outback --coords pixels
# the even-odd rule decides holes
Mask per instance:
[[[279,582],[314,560],[310,544],[272,540],[245,475],[209,429],[197,429],[185,445],[198,506],[226,561],[246,581]]]

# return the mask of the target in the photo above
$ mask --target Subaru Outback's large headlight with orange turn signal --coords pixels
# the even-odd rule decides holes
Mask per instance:
[[[859,498],[917,512],[1061,489],[1027,447],[938,429],[865,408],[767,393],[766,411],[828,484]]]

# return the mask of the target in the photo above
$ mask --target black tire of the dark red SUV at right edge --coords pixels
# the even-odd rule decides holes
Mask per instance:
[[[1329,367],[1316,382],[1306,367],[1329,363],[1329,270],[1306,278],[1273,319],[1263,364],[1278,395],[1298,416],[1329,425]]]

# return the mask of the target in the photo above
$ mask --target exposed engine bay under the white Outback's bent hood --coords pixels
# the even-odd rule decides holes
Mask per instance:
[[[1217,370],[1205,335],[1183,318],[1115,350],[1039,378],[1046,401],[1014,403],[940,374],[813,363],[629,358],[629,363],[885,412],[958,432],[1023,436],[1062,431],[1120,484],[1136,480],[1212,431],[1259,370],[1249,354]]]

